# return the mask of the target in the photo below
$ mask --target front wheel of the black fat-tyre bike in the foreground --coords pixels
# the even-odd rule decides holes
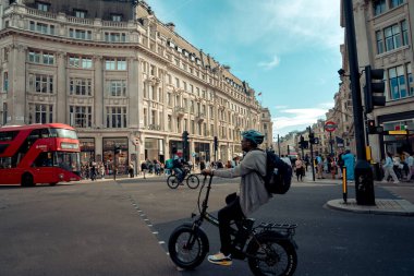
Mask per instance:
[[[168,241],[172,262],[184,269],[193,269],[200,265],[208,250],[206,233],[200,229],[194,230],[191,224],[178,227]]]

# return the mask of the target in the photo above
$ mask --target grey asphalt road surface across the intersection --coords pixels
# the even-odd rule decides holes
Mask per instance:
[[[209,211],[217,214],[238,179],[214,181]],[[197,196],[186,185],[169,189],[163,177],[0,187],[0,275],[251,275],[242,261],[179,272],[169,260],[169,235],[197,211]],[[381,187],[376,196],[394,197]],[[324,207],[340,197],[338,183],[293,182],[254,217],[299,225],[295,275],[413,275],[413,217]],[[218,229],[203,228],[216,253]]]

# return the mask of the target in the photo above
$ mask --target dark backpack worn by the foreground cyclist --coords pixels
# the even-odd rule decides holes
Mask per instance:
[[[266,151],[266,176],[263,179],[269,193],[284,194],[291,188],[292,167],[273,152]]]

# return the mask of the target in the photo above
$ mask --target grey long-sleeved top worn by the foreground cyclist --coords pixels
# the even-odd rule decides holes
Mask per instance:
[[[266,176],[266,153],[263,151],[249,151],[236,167],[214,172],[221,178],[242,177],[239,195],[240,205],[246,217],[271,197],[257,171]]]

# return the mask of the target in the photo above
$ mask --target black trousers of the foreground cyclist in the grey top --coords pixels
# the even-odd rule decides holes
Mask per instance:
[[[235,193],[226,197],[227,206],[219,211],[219,231],[220,231],[220,252],[229,255],[232,252],[230,223],[232,220],[241,220],[244,215],[240,206],[240,199]]]

